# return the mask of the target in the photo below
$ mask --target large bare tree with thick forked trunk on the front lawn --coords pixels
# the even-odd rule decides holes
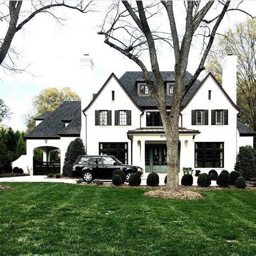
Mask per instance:
[[[176,2],[177,3],[177,2]],[[144,5],[145,4],[145,5]],[[172,0],[162,0],[160,3],[147,3],[143,1],[113,3],[107,11],[99,34],[104,35],[105,43],[116,49],[124,56],[130,58],[143,71],[143,78],[149,86],[151,96],[159,109],[163,122],[166,146],[167,146],[167,188],[177,189],[179,186],[178,176],[178,143],[179,143],[179,114],[181,102],[196,81],[201,71],[205,70],[205,60],[211,50],[214,37],[220,23],[228,11],[239,10],[237,6],[230,7],[230,1],[184,1],[183,9],[185,18],[183,23],[176,25],[174,16],[176,10]],[[169,21],[169,31],[160,31],[152,17],[161,15],[159,11],[165,9],[165,18]],[[210,12],[214,12],[212,17]],[[244,12],[244,11],[243,11]],[[157,23],[158,25],[159,23]],[[185,30],[183,30],[185,24]],[[190,81],[184,84],[188,56],[190,54],[193,38],[201,35],[200,44],[203,46],[199,65]],[[171,39],[171,41],[170,41]],[[197,38],[197,45],[199,38]],[[158,62],[157,43],[169,43],[171,51],[174,50],[175,58],[175,83],[173,85],[172,107],[170,114],[166,111],[166,90],[161,76]],[[151,70],[156,79],[153,86],[149,69],[143,62],[142,51],[149,53]],[[184,86],[185,85],[185,86]]]

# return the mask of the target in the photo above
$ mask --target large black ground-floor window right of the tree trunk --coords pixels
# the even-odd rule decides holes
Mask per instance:
[[[224,143],[223,142],[195,143],[195,167],[197,168],[224,167]]]

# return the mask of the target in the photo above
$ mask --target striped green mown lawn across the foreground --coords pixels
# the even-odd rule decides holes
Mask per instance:
[[[255,255],[255,191],[199,200],[145,189],[2,183],[0,255]],[[226,240],[235,240],[227,242]]]

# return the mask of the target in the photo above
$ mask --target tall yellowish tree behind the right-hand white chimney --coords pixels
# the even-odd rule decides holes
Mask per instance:
[[[247,19],[218,36],[206,68],[221,83],[221,60],[228,53],[238,56],[237,104],[240,118],[256,131],[256,19]],[[256,140],[254,139],[254,144]]]

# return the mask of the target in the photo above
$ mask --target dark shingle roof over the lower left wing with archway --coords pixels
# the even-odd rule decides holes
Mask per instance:
[[[81,102],[66,101],[51,112],[25,138],[59,138],[64,135],[79,136],[81,130]],[[65,127],[63,120],[71,120]]]

